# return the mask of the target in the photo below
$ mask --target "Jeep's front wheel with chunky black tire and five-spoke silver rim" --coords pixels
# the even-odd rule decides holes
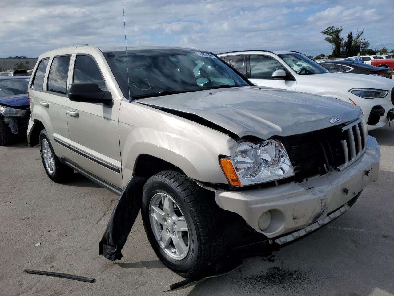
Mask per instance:
[[[169,249],[175,249],[175,242],[180,238],[180,231],[177,231],[175,236],[173,231],[177,229],[173,225],[168,226],[168,223],[177,220],[167,216],[167,224],[156,223],[162,219],[161,214],[164,213],[164,217],[167,215],[163,210],[163,201],[161,203],[163,213],[157,214],[155,212],[158,219],[151,215],[154,212],[152,206],[156,204],[154,201],[157,199],[157,195],[164,196],[164,199],[171,199],[175,204],[173,212],[178,217],[184,217],[187,231],[181,233],[184,245],[186,246],[187,242],[188,249],[183,255],[180,252],[175,254],[169,252]],[[160,209],[160,205],[158,207]],[[226,246],[226,231],[223,227],[225,211],[217,206],[211,191],[201,188],[187,176],[166,170],[149,178],[143,187],[141,215],[145,232],[154,252],[168,268],[178,275],[199,277],[215,268],[215,264],[223,257]],[[178,217],[175,219],[179,219]],[[152,226],[154,224],[161,226],[157,229],[157,226]],[[182,224],[178,223],[178,226],[182,227],[180,225]],[[167,249],[158,242],[157,234],[160,233],[160,229],[162,229],[162,235],[165,230],[171,229],[170,236],[172,236]]]

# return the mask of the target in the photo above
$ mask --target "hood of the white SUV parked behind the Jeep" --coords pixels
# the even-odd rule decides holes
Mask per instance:
[[[351,74],[351,73],[323,73],[314,75],[303,75],[308,79],[308,84],[322,82],[329,86],[335,85],[346,86],[347,90],[351,88],[376,88],[379,90],[392,90],[394,88],[394,81],[390,79],[382,79],[379,76],[365,75],[365,74]],[[386,81],[387,80],[387,81]],[[334,84],[335,83],[335,84]]]

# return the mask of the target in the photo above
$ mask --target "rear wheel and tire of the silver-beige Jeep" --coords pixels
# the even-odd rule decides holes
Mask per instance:
[[[56,183],[69,181],[74,170],[61,163],[59,158],[56,156],[52,148],[52,144],[49,141],[48,133],[45,129],[41,130],[39,134],[39,148],[41,161],[43,162],[43,166],[48,177]],[[50,160],[48,160],[48,157]],[[49,162],[50,165],[47,165],[46,161]]]

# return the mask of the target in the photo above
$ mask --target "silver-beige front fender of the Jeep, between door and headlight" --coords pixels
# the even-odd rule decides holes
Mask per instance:
[[[191,120],[141,104],[123,103],[119,114],[123,182],[133,176],[139,155],[158,157],[189,178],[227,184],[219,155],[233,155],[237,143],[228,135]]]

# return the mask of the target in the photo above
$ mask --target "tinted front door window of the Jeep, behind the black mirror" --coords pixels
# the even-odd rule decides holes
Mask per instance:
[[[99,67],[90,56],[76,56],[72,82],[91,82],[100,86],[103,91],[108,90]]]

